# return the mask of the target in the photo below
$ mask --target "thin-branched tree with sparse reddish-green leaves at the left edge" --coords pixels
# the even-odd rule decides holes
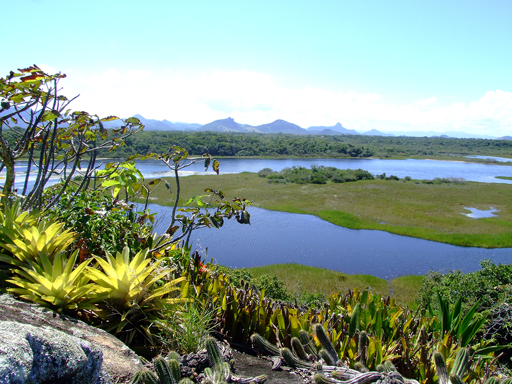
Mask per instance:
[[[100,119],[68,109],[76,97],[68,99],[59,94],[58,82],[65,74],[49,75],[36,65],[18,71],[0,78],[0,170],[6,170],[3,201],[8,203],[13,194],[20,192],[23,209],[44,209],[53,205],[70,183],[78,184],[76,194],[87,188],[95,177],[98,151],[124,145],[125,138],[142,130],[143,125],[131,117],[109,132],[103,122],[118,117]],[[28,159],[28,166],[25,183],[18,191],[14,188],[14,166],[23,158]],[[36,179],[30,185],[33,169]],[[82,176],[80,182],[73,180],[77,175]],[[42,191],[52,177],[61,177],[60,190],[53,200],[44,203]]]

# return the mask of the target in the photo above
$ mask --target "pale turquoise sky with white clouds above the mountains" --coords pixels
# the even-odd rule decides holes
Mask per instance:
[[[73,109],[100,117],[512,136],[509,0],[0,0],[0,12],[0,76],[65,73]]]

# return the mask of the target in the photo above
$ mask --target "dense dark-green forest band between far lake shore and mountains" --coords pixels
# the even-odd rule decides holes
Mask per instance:
[[[391,157],[436,154],[511,155],[512,141],[363,135],[313,136],[259,133],[143,131],[126,140],[116,156],[163,153],[170,145],[211,156]]]

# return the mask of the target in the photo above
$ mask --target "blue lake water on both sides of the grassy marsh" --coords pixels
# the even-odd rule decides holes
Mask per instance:
[[[111,160],[108,160],[111,161]],[[106,161],[105,161],[106,162]],[[436,177],[463,177],[468,181],[507,183],[512,180],[512,166],[434,160],[380,160],[380,159],[221,159],[221,173],[258,172],[263,168],[281,170],[291,166],[310,167],[312,164],[337,168],[362,168],[372,174],[386,173],[400,178],[433,179]],[[26,163],[16,170],[24,175]],[[161,162],[138,162],[146,178],[173,176]],[[209,174],[213,174],[211,168]],[[182,175],[204,174],[202,164],[186,168]],[[0,174],[1,175],[1,174]],[[16,185],[19,185],[19,179]],[[152,211],[160,212],[162,233],[168,221],[169,207],[155,204]],[[464,272],[479,269],[479,261],[490,259],[495,263],[512,262],[512,249],[466,248],[428,240],[399,236],[384,231],[355,230],[339,227],[311,215],[289,214],[261,208],[249,208],[251,225],[226,221],[223,228],[204,228],[193,233],[193,246],[208,259],[241,268],[278,263],[300,263],[315,267],[366,273],[383,279],[406,274],[424,274],[429,270],[461,269]],[[478,220],[478,219],[476,219]],[[206,250],[206,247],[207,250]]]

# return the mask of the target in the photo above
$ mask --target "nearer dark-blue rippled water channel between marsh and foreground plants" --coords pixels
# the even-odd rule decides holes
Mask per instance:
[[[171,207],[150,204],[163,217],[163,232]],[[220,229],[202,228],[191,241],[207,260],[233,268],[297,263],[349,274],[364,273],[382,279],[430,270],[480,268],[479,261],[512,262],[512,249],[467,248],[384,231],[348,229],[312,215],[249,208],[251,225],[226,220]],[[165,220],[167,219],[167,220]],[[207,247],[207,249],[206,249]]]

